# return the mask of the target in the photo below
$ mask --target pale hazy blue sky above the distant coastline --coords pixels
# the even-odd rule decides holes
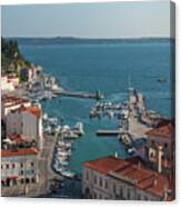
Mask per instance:
[[[170,2],[2,6],[3,37],[170,37]]]

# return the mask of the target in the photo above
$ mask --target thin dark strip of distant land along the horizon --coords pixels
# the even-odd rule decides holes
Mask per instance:
[[[11,37],[7,39],[16,39],[18,43],[26,45],[87,45],[87,43],[138,43],[138,42],[174,42],[173,38],[102,38],[102,39],[91,39],[91,38],[77,38],[77,37],[50,37],[50,38],[37,38],[37,37]]]

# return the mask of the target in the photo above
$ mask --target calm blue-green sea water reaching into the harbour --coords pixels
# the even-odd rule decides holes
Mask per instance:
[[[163,116],[170,116],[170,42],[124,42],[103,45],[20,45],[30,61],[41,65],[60,85],[71,90],[100,89],[111,101],[127,99],[128,79],[143,92],[148,106]],[[167,82],[160,83],[160,77]],[[59,97],[43,103],[44,111],[63,117],[64,124],[84,124],[86,135],[73,142],[70,168],[81,171],[81,164],[115,151],[124,158],[124,148],[117,138],[98,138],[99,128],[117,128],[115,120],[90,120],[90,99]]]

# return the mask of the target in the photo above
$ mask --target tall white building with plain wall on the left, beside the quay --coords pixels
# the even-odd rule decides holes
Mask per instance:
[[[22,135],[42,148],[42,112],[39,106],[21,106],[7,115],[7,135]]]

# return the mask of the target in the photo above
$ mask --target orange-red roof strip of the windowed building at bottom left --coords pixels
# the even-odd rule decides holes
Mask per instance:
[[[2,149],[1,157],[19,157],[19,156],[30,156],[38,155],[38,149],[34,147],[29,148],[18,148],[18,149]]]

